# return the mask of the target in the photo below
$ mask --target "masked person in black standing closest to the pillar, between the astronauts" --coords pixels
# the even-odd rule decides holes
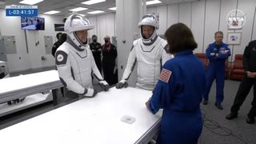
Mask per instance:
[[[114,78],[115,58],[118,56],[117,48],[110,42],[110,36],[106,35],[102,45],[102,68],[104,78],[110,85],[117,83]]]

